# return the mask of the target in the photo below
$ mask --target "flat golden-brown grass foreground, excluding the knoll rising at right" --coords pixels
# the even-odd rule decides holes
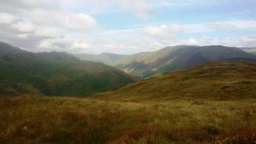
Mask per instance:
[[[0,98],[0,143],[256,141],[256,99],[114,102]]]

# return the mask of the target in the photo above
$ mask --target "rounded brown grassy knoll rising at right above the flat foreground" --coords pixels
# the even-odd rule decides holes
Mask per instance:
[[[256,98],[256,63],[210,62],[165,73],[92,98],[115,101]]]

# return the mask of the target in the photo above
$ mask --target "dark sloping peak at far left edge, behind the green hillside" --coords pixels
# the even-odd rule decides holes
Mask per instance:
[[[5,54],[21,54],[26,53],[27,51],[19,49],[18,47],[11,46],[7,43],[0,42],[0,57]]]

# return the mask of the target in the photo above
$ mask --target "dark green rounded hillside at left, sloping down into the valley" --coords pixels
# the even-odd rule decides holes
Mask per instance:
[[[84,97],[115,90],[137,81],[115,67],[83,61],[65,52],[14,51],[1,55],[0,94],[32,93]]]

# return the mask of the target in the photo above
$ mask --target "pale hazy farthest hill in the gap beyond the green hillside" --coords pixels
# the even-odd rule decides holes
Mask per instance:
[[[112,54],[112,53],[102,53],[102,54],[72,54],[77,58],[95,62],[102,62],[107,65],[113,65],[114,62],[127,57],[128,55],[123,54]]]

